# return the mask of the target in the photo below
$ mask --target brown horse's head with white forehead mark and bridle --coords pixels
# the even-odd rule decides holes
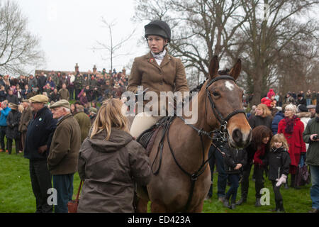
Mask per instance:
[[[252,129],[242,109],[243,91],[235,80],[241,71],[238,60],[229,72],[219,70],[218,57],[214,56],[209,65],[209,78],[206,84],[207,123],[213,128],[227,128],[228,142],[232,147],[244,148],[249,145]]]

